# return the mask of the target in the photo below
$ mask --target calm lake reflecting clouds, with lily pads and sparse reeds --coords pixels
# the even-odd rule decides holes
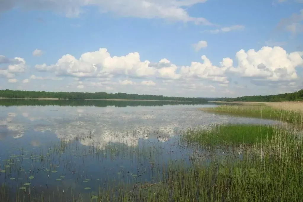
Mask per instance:
[[[169,162],[190,164],[188,128],[275,121],[211,114],[211,104],[161,101],[0,101],[0,183],[16,191],[92,198],[99,187],[156,182]],[[200,154],[206,153],[203,149]],[[240,154],[237,154],[238,156]],[[207,162],[207,161],[205,161]],[[48,200],[46,200],[48,201]]]

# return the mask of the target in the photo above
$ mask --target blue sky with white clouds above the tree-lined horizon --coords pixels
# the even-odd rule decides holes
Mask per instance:
[[[0,0],[0,89],[303,89],[303,0]]]

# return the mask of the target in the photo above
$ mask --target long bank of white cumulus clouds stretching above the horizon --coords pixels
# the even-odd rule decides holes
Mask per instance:
[[[89,87],[87,89],[98,90],[117,90],[133,84],[141,84],[135,86],[136,89],[161,84],[169,90],[176,88],[178,84],[181,88],[188,88],[191,91],[193,89],[213,91],[217,87],[230,86],[231,81],[237,82],[234,80],[237,78],[245,78],[245,82],[256,85],[268,86],[275,83],[274,85],[278,86],[300,79],[298,67],[303,65],[302,55],[303,52],[287,53],[278,46],[274,48],[265,46],[260,50],[240,50],[234,59],[223,58],[218,65],[213,64],[206,55],[202,55],[202,61],[192,61],[189,65],[178,66],[166,58],[155,63],[141,61],[137,52],[111,56],[107,49],[100,48],[98,51],[82,54],[79,59],[67,54],[55,65],[36,65],[37,71],[45,71],[45,74],[53,76],[32,75],[29,79],[58,80],[72,76],[75,81],[68,86],[78,89],[87,86]],[[62,82],[64,81],[65,79]],[[295,88],[298,85],[299,83]]]

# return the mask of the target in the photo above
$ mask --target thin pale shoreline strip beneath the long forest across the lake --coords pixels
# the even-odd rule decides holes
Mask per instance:
[[[99,101],[162,101],[162,102],[192,102],[180,100],[133,100],[133,99],[69,99],[69,98],[0,98],[1,99],[22,99],[22,100],[99,100]]]

